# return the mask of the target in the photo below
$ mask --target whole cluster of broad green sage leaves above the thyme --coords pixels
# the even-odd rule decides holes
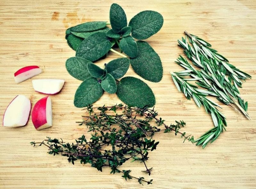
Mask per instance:
[[[66,31],[67,43],[76,51],[76,57],[67,60],[66,68],[70,75],[83,81],[76,91],[74,105],[85,107],[92,104],[106,91],[116,93],[129,106],[154,106],[154,93],[146,83],[134,77],[117,79],[124,76],[131,63],[133,70],[142,78],[151,82],[161,81],[161,59],[147,42],[141,40],[162,28],[162,15],[155,11],[142,11],[127,25],[122,7],[112,4],[109,20],[111,28],[107,27],[106,21],[92,21]],[[118,47],[119,51],[112,47]],[[109,51],[124,58],[109,62],[104,69],[93,64],[104,59]]]

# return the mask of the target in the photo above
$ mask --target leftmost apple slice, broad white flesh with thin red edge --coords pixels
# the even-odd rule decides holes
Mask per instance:
[[[3,126],[21,127],[27,124],[31,109],[30,100],[24,95],[17,95],[4,112]]]

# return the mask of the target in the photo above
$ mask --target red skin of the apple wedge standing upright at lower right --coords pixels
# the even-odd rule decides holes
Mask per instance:
[[[38,100],[32,110],[32,122],[35,126],[35,128],[39,128],[40,126],[47,123],[46,120],[46,102],[47,98],[49,96],[46,96],[44,98],[41,98]]]

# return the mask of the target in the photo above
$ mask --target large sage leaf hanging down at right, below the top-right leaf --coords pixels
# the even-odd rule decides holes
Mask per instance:
[[[163,77],[162,62],[154,49],[145,41],[137,41],[138,56],[131,58],[133,70],[151,82],[160,82]]]

